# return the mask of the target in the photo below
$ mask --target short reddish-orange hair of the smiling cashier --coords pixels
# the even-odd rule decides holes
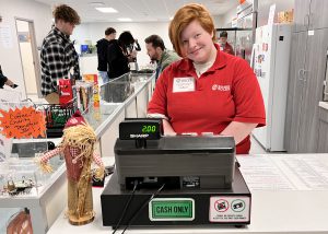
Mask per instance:
[[[183,45],[180,39],[181,32],[195,20],[198,21],[209,34],[213,33],[212,39],[215,42],[214,22],[210,12],[202,4],[186,4],[175,13],[168,27],[168,36],[173,48],[180,57],[184,57],[180,48]]]

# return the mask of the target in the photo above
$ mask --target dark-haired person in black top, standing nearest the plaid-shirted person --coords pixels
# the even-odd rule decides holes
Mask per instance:
[[[103,80],[103,83],[107,83],[109,81],[108,77],[108,46],[110,42],[116,38],[116,30],[113,27],[108,27],[105,31],[105,38],[99,39],[96,44],[97,55],[98,55],[98,74]]]

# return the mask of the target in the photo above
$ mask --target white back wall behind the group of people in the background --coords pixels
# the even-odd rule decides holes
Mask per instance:
[[[130,31],[134,38],[138,39],[141,51],[138,52],[138,63],[147,65],[150,62],[150,58],[145,51],[144,39],[152,35],[157,34],[164,40],[165,47],[172,49],[168,37],[168,22],[166,23],[86,23],[75,27],[71,39],[75,39],[77,44],[83,44],[85,39],[92,42],[93,45],[104,37],[105,30],[107,27],[114,27],[116,30],[117,38],[124,31]]]

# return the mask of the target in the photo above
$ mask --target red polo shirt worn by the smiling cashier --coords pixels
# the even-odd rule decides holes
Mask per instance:
[[[258,81],[248,63],[220,52],[213,66],[200,78],[189,59],[167,67],[160,75],[149,103],[149,114],[165,115],[177,133],[213,132],[219,134],[231,121],[266,125],[265,105]],[[195,91],[173,92],[175,78],[194,78]],[[236,147],[248,153],[249,136]]]

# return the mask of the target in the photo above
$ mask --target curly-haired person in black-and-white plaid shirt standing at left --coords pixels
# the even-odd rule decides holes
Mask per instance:
[[[55,8],[52,14],[55,26],[44,39],[40,51],[40,90],[48,103],[58,104],[58,79],[80,79],[79,56],[70,35],[81,20],[77,11],[66,4]]]

